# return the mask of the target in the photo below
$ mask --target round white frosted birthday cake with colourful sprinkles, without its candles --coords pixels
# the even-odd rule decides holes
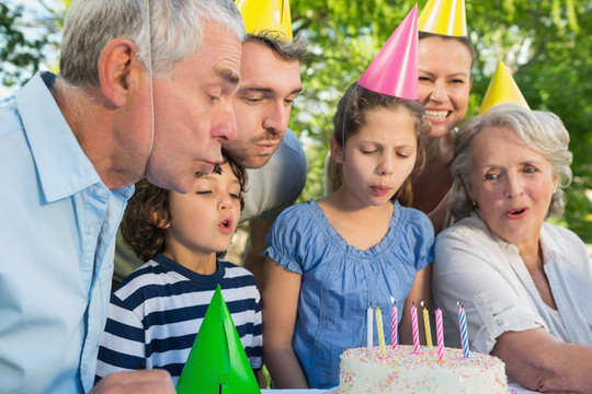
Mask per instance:
[[[439,360],[437,348],[412,346],[387,348],[378,356],[367,348],[348,349],[341,355],[339,393],[487,393],[508,394],[505,366],[497,357],[471,352],[465,358],[460,349],[444,348]]]

